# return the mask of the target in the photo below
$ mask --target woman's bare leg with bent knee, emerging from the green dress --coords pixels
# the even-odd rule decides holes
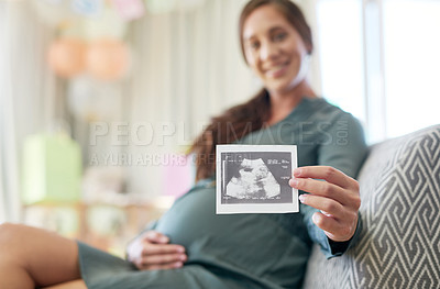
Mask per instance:
[[[34,289],[78,279],[76,242],[25,225],[0,225],[0,288]]]

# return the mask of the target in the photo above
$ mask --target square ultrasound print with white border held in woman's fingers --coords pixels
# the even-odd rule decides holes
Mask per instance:
[[[297,212],[296,159],[293,145],[218,145],[217,213]]]

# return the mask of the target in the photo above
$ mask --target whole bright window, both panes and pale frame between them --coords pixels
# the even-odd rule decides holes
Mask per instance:
[[[322,93],[370,143],[440,123],[438,15],[438,0],[318,0]]]

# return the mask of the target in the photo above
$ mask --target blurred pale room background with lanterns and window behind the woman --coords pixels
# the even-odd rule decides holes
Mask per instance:
[[[193,184],[212,115],[261,84],[246,0],[0,0],[0,223],[123,255]],[[440,122],[439,0],[297,0],[309,79],[370,144]]]

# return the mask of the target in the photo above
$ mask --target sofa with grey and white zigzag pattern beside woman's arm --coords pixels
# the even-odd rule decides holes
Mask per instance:
[[[304,288],[440,288],[440,125],[373,145],[359,181],[358,243],[314,247]]]

